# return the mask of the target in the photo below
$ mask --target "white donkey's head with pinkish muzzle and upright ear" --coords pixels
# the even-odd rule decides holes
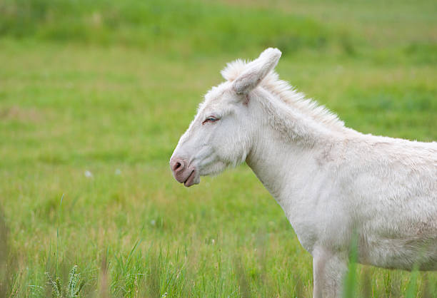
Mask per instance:
[[[256,125],[251,91],[276,66],[281,51],[268,48],[254,61],[234,61],[221,72],[227,80],[209,91],[170,159],[174,178],[189,187],[202,175],[221,173],[246,160]]]

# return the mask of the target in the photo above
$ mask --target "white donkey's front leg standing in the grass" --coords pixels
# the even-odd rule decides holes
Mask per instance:
[[[313,251],[313,297],[341,297],[343,279],[348,269],[347,255],[328,250]]]

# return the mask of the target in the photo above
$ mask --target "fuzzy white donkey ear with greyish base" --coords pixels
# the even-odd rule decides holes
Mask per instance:
[[[256,60],[248,63],[246,70],[233,81],[233,90],[237,94],[249,93],[275,68],[280,57],[281,51],[277,48],[267,48]]]

